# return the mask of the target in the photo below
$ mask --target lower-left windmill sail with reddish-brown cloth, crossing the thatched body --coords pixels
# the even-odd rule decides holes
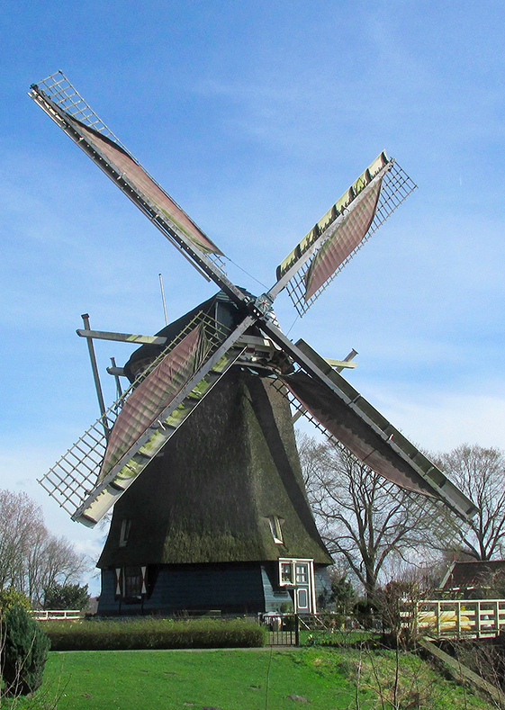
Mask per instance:
[[[109,440],[100,418],[41,485],[75,520],[95,526],[241,355],[236,343],[252,322],[227,336],[200,314],[105,412]]]

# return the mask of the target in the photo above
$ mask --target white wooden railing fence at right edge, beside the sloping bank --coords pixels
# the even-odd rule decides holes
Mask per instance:
[[[403,625],[435,638],[496,636],[505,629],[505,599],[425,599],[401,616]]]

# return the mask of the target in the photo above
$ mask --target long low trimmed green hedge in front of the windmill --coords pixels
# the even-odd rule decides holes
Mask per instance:
[[[247,648],[265,645],[265,629],[244,619],[48,621],[53,651]]]

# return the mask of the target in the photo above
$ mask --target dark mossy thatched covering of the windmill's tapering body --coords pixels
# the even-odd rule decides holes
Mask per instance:
[[[275,544],[268,517],[283,518]],[[122,520],[131,520],[119,546]],[[305,497],[291,412],[273,382],[232,368],[114,508],[99,567],[330,564]]]

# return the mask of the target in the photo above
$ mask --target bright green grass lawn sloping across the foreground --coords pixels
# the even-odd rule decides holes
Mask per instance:
[[[391,707],[395,668],[391,651],[51,652],[37,707],[58,697],[59,710],[372,710]],[[401,657],[398,687],[401,708],[489,707],[416,657]]]

